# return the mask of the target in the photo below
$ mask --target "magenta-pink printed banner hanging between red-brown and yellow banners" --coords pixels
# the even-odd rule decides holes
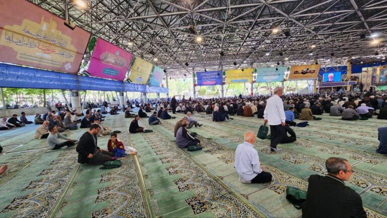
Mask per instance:
[[[133,54],[99,38],[87,72],[90,76],[123,81]]]

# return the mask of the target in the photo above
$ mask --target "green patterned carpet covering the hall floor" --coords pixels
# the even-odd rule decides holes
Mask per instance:
[[[269,140],[257,139],[255,149],[274,182],[242,184],[234,169],[234,152],[246,131],[257,133],[256,117],[233,116],[212,122],[195,114],[204,125],[192,128],[205,148],[178,149],[173,127],[181,118],[162,125],[140,125],[153,133],[129,134],[130,119],[106,117],[103,125],[121,130],[118,138],[139,154],[122,158],[121,168],[79,165],[75,149],[51,151],[45,139],[32,139],[35,125],[0,132],[4,147],[0,164],[0,217],[300,217],[301,211],[285,199],[286,186],[307,188],[312,174],[326,174],[325,160],[348,159],[356,173],[348,186],[363,199],[369,217],[387,215],[387,158],[376,154],[377,127],[386,121],[341,121],[320,116],[306,128],[293,128],[294,143],[268,152]],[[85,129],[66,131],[79,138]],[[98,138],[106,149],[108,136]]]

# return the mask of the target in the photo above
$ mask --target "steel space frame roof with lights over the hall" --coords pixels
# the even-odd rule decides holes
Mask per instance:
[[[29,1],[64,18],[66,0]],[[205,68],[375,62],[387,54],[386,0],[86,0],[85,9],[67,1],[71,22],[165,68],[172,78]],[[377,46],[370,44],[372,34]]]

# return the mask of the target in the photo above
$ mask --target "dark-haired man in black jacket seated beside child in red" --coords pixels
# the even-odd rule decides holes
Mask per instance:
[[[97,134],[100,130],[99,125],[93,124],[89,131],[85,132],[79,139],[77,152],[78,163],[80,164],[104,164],[110,161],[113,153],[100,149],[97,146]]]

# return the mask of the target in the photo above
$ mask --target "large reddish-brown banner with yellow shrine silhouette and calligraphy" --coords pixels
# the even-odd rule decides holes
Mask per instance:
[[[90,33],[26,0],[0,3],[0,60],[77,74]]]

